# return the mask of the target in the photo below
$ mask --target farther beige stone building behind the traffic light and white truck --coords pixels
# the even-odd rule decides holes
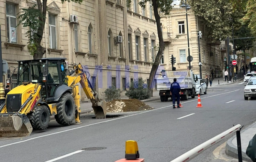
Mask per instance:
[[[187,25],[189,28],[189,50],[193,57],[191,69],[199,76],[199,53],[198,53],[198,31],[201,31],[202,38],[200,39],[201,63],[202,63],[202,78],[205,75],[210,75],[211,69],[218,69],[222,75],[223,55],[221,55],[221,42],[211,42],[205,38],[204,25],[200,23],[198,18],[192,12],[192,9],[187,9],[188,24],[186,23],[186,9],[180,7],[180,0],[173,3],[173,9],[170,15],[161,15],[163,39],[166,44],[161,60],[161,65],[166,70],[172,70],[170,58],[172,55],[176,58],[176,71],[189,69],[188,57],[188,40],[187,40]],[[178,38],[176,38],[178,36]]]

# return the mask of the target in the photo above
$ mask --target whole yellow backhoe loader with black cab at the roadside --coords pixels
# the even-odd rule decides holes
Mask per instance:
[[[45,130],[50,116],[58,124],[80,122],[81,84],[92,102],[96,118],[106,118],[106,102],[95,93],[81,64],[66,75],[66,58],[18,61],[17,84],[0,106],[0,137],[29,136]]]

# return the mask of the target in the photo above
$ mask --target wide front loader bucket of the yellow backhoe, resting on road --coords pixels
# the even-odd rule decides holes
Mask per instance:
[[[25,114],[0,114],[0,137],[29,136],[32,130],[32,125]]]

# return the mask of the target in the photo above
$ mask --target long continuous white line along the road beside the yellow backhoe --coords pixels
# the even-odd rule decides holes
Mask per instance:
[[[224,95],[224,94],[233,93],[233,92],[236,92],[236,91],[238,91],[238,90],[233,90],[233,91],[230,91],[230,92],[220,93],[220,94],[217,94],[217,95]],[[204,97],[204,98],[214,97],[214,96],[217,96],[217,95],[211,95],[211,96]],[[200,97],[200,98],[201,98],[201,97]],[[201,99],[204,99],[204,98],[201,98]],[[198,101],[198,99],[194,99],[194,100],[190,100],[190,101],[186,101],[186,102],[182,102],[182,103],[185,104],[185,103],[192,102],[192,101]],[[102,124],[102,123],[111,122],[111,121],[114,121],[114,120],[119,120],[119,119],[123,119],[123,118],[128,118],[128,117],[130,117],[130,116],[135,116],[135,115],[139,115],[139,114],[143,114],[143,113],[148,113],[148,112],[155,111],[155,110],[160,110],[160,109],[163,109],[163,108],[166,108],[166,107],[172,107],[172,104],[169,105],[169,106],[160,107],[160,108],[153,109],[153,110],[148,110],[148,111],[143,111],[143,112],[141,112],[141,113],[131,114],[131,115],[123,116],[123,117],[120,117],[120,118],[115,118],[115,119],[106,120],[106,121],[102,121],[102,122],[98,122],[98,123],[88,124],[88,125],[84,125],[84,126],[81,126],[81,127],[75,127],[75,128],[71,128],[71,129],[68,129],[68,130],[62,130],[62,131],[59,131],[59,132],[50,133],[50,134],[46,134],[46,135],[43,135],[43,136],[33,137],[33,138],[31,138],[31,139],[26,139],[26,140],[24,140],[24,141],[19,141],[19,142],[14,142],[14,143],[10,143],[10,144],[7,144],[7,145],[3,145],[3,146],[0,146],[0,148],[4,148],[4,147],[6,147],[6,146],[10,146],[10,145],[15,145],[15,144],[19,144],[19,143],[31,141],[31,140],[34,140],[34,139],[39,139],[39,138],[46,137],[46,136],[52,136],[52,135],[55,135],[55,134],[68,132],[68,131],[71,131],[71,130],[81,129],[81,128],[83,128],[83,127],[90,127],[90,126],[96,125],[96,124]]]

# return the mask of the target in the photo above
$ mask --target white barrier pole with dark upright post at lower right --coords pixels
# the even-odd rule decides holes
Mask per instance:
[[[225,132],[213,137],[212,139],[209,139],[207,142],[204,142],[201,145],[193,148],[192,150],[189,150],[188,152],[177,157],[176,159],[172,160],[171,162],[188,162],[189,160],[198,156],[199,153],[202,153],[207,148],[215,145],[218,142],[221,142],[223,139],[227,138],[228,136],[230,136],[233,133],[236,133],[236,138],[237,138],[238,159],[239,159],[239,162],[242,162],[241,136],[240,136],[241,128],[242,128],[241,125],[237,124],[236,126],[230,128],[229,130],[226,130]]]

